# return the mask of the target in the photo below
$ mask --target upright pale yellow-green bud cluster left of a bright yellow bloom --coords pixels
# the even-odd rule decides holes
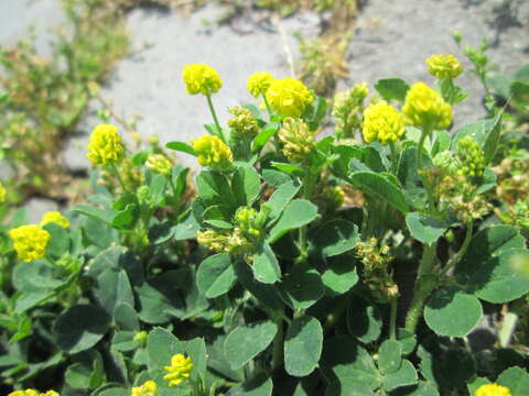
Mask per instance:
[[[333,116],[336,118],[336,135],[339,139],[354,138],[360,128],[364,99],[368,92],[366,82],[361,82],[334,97]]]

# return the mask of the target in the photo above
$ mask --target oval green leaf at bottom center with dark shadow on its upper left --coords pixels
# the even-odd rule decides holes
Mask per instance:
[[[311,374],[322,354],[323,330],[320,320],[295,318],[284,339],[284,369],[293,376]]]

